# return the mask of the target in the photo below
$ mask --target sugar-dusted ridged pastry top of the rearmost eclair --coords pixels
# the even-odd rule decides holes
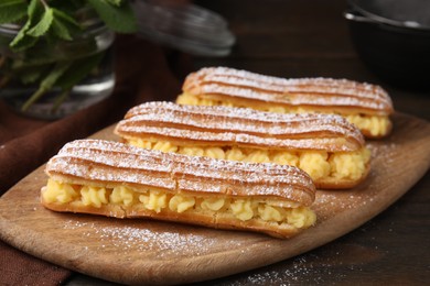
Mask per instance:
[[[289,106],[316,106],[361,109],[373,114],[389,114],[393,102],[376,85],[346,79],[284,79],[227,67],[208,67],[190,74],[183,90],[192,95],[222,95]]]

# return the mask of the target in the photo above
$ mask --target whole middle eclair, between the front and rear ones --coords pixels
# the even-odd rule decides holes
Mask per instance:
[[[114,132],[143,148],[297,166],[323,189],[352,188],[370,166],[363,134],[337,114],[147,102],[131,108]]]

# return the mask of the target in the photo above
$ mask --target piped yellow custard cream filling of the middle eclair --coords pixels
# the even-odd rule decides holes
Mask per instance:
[[[131,145],[162,152],[173,152],[192,156],[206,156],[218,160],[243,161],[252,163],[275,163],[292,165],[307,172],[313,180],[333,177],[356,180],[363,176],[370,160],[369,150],[335,153],[307,151],[288,152],[276,150],[252,150],[244,147],[204,147],[179,146],[169,141],[150,142],[129,140]]]

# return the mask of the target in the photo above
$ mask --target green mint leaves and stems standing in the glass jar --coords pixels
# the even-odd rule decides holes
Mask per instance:
[[[133,33],[138,29],[128,0],[1,0],[0,24],[21,26],[9,45],[19,56],[6,58],[11,63],[0,66],[1,74],[8,79],[4,82],[18,80],[39,86],[22,110],[54,87],[62,90],[57,100],[61,102],[97,67],[103,54],[96,53],[97,45],[90,42],[79,47],[87,56],[77,59],[56,61],[46,52],[61,42],[78,38],[86,31],[86,21],[94,18],[99,18],[115,32]]]

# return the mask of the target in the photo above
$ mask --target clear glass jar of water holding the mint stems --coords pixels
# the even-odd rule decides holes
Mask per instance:
[[[0,25],[0,99],[34,118],[58,119],[110,96],[115,86],[112,42],[115,34],[98,18],[84,18],[83,32],[72,41],[53,44],[43,36],[24,52],[9,44],[20,25]],[[49,89],[41,82],[60,70]],[[37,94],[34,102],[30,98]]]

